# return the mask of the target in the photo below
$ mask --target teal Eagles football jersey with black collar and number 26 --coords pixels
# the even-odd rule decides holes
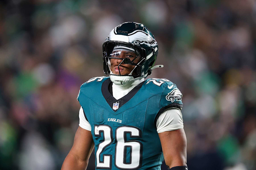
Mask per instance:
[[[167,108],[181,109],[181,92],[167,79],[152,78],[116,100],[111,85],[109,77],[92,78],[77,98],[92,127],[96,169],[160,170],[156,120]]]

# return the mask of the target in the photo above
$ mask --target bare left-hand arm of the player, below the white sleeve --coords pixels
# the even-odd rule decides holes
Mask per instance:
[[[64,160],[61,170],[84,170],[94,147],[91,131],[78,127],[74,144]]]

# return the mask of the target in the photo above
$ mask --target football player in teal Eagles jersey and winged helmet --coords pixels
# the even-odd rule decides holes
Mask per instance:
[[[145,80],[156,65],[157,42],[142,24],[115,27],[103,43],[104,72],[78,94],[79,127],[62,170],[85,169],[95,148],[96,169],[188,170],[182,94],[167,79]]]

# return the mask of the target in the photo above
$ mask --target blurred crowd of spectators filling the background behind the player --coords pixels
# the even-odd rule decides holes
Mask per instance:
[[[158,42],[149,78],[183,93],[189,170],[255,170],[255,0],[1,0],[0,169],[60,169],[80,85],[104,76],[102,43],[126,21]]]

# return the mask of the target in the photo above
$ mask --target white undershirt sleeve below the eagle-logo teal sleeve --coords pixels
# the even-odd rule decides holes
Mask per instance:
[[[157,133],[182,129],[183,119],[180,109],[166,109],[156,121]]]

